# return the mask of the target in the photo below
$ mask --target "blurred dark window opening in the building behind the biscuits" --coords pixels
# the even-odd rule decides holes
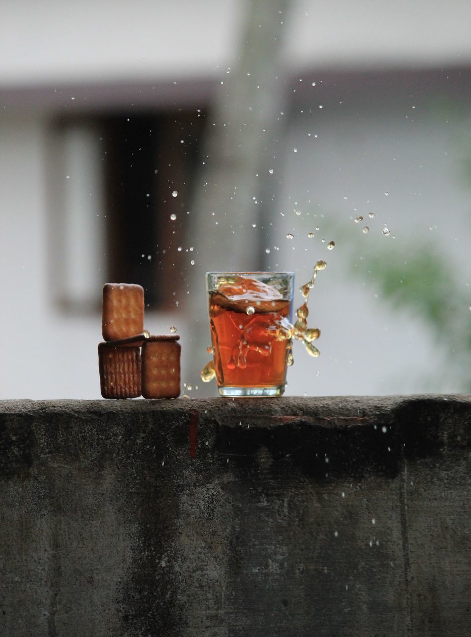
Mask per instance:
[[[203,121],[171,112],[100,121],[108,280],[142,285],[151,309],[170,308],[181,287]]]

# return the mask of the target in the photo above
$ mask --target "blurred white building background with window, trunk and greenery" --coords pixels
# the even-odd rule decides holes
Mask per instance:
[[[3,3],[0,397],[99,397],[107,281],[144,285],[184,392],[214,395],[203,273],[300,285],[318,259],[322,355],[295,343],[287,393],[469,391],[470,22],[464,0]]]

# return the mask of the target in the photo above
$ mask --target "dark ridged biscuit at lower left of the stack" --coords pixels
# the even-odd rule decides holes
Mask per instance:
[[[98,346],[100,383],[104,398],[140,396],[140,347]]]

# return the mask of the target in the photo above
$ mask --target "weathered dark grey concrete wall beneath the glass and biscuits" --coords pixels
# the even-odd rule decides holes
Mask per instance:
[[[470,396],[0,403],[0,635],[471,634]]]

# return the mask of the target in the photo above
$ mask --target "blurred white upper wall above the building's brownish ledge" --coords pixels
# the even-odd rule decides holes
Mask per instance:
[[[243,0],[3,3],[0,82],[218,75],[235,62],[244,8]],[[423,68],[471,59],[467,0],[297,0],[280,21],[291,69]]]

